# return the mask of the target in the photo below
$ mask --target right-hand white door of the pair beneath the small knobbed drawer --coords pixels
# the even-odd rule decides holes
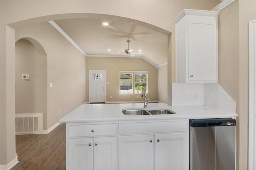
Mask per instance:
[[[94,170],[117,169],[117,137],[94,138]]]

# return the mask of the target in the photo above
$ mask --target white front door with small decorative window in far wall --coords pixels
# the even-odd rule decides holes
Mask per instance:
[[[90,103],[105,102],[105,70],[89,70]]]

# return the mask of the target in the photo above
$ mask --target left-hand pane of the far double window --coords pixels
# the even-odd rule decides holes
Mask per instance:
[[[132,94],[133,78],[131,73],[120,73],[120,94]]]

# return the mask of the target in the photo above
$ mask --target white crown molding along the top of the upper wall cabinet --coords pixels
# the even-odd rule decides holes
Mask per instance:
[[[218,11],[207,11],[207,10],[191,10],[191,9],[184,9],[176,18],[174,18],[174,23],[178,23],[184,16],[186,15],[193,15],[193,16],[218,16]]]

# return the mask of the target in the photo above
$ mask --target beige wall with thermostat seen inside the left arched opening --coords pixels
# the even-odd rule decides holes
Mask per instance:
[[[40,55],[26,39],[15,44],[15,111],[43,113],[43,129],[47,129],[47,56]],[[29,80],[22,80],[29,74]]]

